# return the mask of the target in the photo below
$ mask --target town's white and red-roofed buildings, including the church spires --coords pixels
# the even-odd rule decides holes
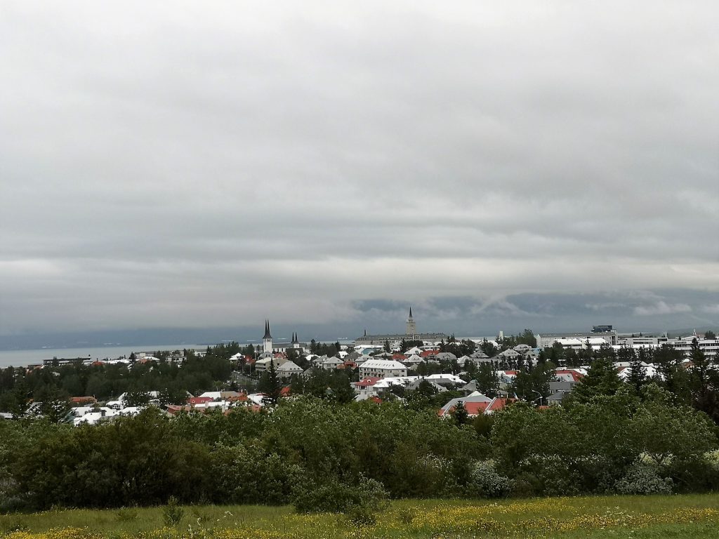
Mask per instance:
[[[352,371],[354,375],[352,379],[352,387],[356,393],[356,400],[382,400],[388,393],[400,393],[396,390],[416,390],[420,384],[430,384],[435,393],[454,390],[462,392],[463,397],[448,399],[446,404],[439,410],[439,415],[444,416],[452,413],[461,401],[465,410],[471,416],[479,414],[490,414],[496,410],[501,410],[508,402],[514,399],[512,393],[513,381],[518,371],[516,369],[526,364],[536,364],[539,351],[542,348],[551,346],[561,346],[564,349],[598,349],[602,346],[611,346],[613,348],[633,347],[633,348],[651,348],[654,346],[673,346],[675,349],[682,351],[687,356],[685,362],[690,365],[688,356],[692,350],[692,343],[697,341],[700,349],[709,357],[716,356],[719,352],[719,339],[702,338],[696,333],[685,338],[669,339],[666,336],[653,337],[643,335],[620,336],[613,330],[612,326],[595,326],[590,333],[575,334],[551,334],[536,335],[538,347],[532,348],[527,344],[519,344],[510,349],[498,352],[494,356],[487,356],[483,351],[477,348],[477,351],[470,355],[456,356],[449,351],[440,351],[440,342],[422,341],[421,346],[413,346],[412,348],[402,351],[400,346],[402,340],[411,340],[418,342],[413,338],[418,336],[416,326],[413,321],[411,311],[408,318],[408,334],[396,337],[395,341],[389,343],[385,341],[383,344],[377,344],[375,341],[379,339],[368,338],[365,336],[357,339],[354,347],[341,346],[341,350],[334,356],[309,354],[306,352],[306,345],[298,340],[297,334],[293,333],[290,343],[275,343],[270,333],[270,323],[265,321],[265,336],[262,339],[262,349],[256,356],[244,356],[243,354],[235,354],[230,361],[234,364],[242,364],[243,367],[249,367],[252,374],[262,375],[270,368],[273,368],[279,379],[289,382],[292,377],[308,377],[314,369],[322,369],[326,371],[335,371],[347,369]],[[434,336],[434,334],[432,334]],[[403,337],[400,340],[400,337]],[[492,344],[494,349],[501,349],[500,343],[494,340],[477,340],[475,344]],[[391,351],[385,351],[385,349]],[[485,349],[487,347],[485,346]],[[290,350],[292,353],[290,354]],[[196,352],[201,354],[201,352]],[[170,361],[182,362],[181,353],[174,352],[170,354]],[[292,361],[290,357],[301,357],[300,361],[304,367]],[[53,359],[52,364],[58,360]],[[64,361],[64,360],[63,360]],[[73,361],[76,361],[73,360]],[[156,356],[150,353],[139,353],[132,358],[132,361],[141,363],[160,361]],[[131,359],[120,358],[107,361],[92,361],[93,363],[104,364],[107,362],[127,362]],[[47,363],[47,362],[46,362]],[[423,374],[429,372],[428,369],[418,369],[420,365],[430,364],[450,364],[456,374]],[[495,370],[499,382],[499,397],[487,397],[482,395],[477,387],[477,382],[471,380],[467,382],[467,369],[470,364],[479,366],[480,364],[491,364]],[[630,365],[628,363],[615,363],[620,378],[626,379],[629,373]],[[643,363],[644,371],[647,377],[657,375],[657,369],[653,364]],[[434,369],[429,369],[434,370]],[[447,369],[444,369],[445,371]],[[471,369],[470,369],[471,372]],[[586,367],[575,369],[558,368],[554,373],[554,380],[549,384],[549,395],[539,395],[537,405],[551,405],[562,401],[564,396],[572,392],[574,384],[587,374]],[[359,378],[359,379],[357,379]],[[289,385],[283,389],[282,395],[291,397]],[[150,405],[160,405],[159,394],[150,392]],[[127,395],[121,395],[117,400],[106,402],[99,406],[93,401],[92,397],[75,397],[75,406],[68,414],[68,422],[75,425],[95,424],[104,420],[109,420],[122,415],[135,415],[142,410],[142,407],[129,405]],[[84,401],[83,401],[84,400]],[[187,395],[185,402],[173,403],[165,405],[167,413],[176,415],[181,412],[206,412],[208,410],[221,410],[228,413],[235,407],[249,407],[252,410],[260,410],[267,398],[262,393],[244,393],[235,391],[214,391],[205,392],[197,397]]]

